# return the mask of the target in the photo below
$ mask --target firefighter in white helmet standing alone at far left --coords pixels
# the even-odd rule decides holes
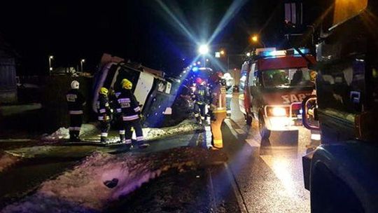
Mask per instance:
[[[71,82],[71,90],[66,93],[66,102],[69,109],[69,141],[80,142],[80,128],[83,123],[83,106],[85,105],[85,98],[79,92],[79,82]]]

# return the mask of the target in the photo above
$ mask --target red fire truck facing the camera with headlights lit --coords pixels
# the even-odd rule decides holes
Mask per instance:
[[[311,95],[314,82],[308,68],[315,58],[309,50],[260,48],[241,67],[239,107],[251,125],[258,120],[262,139],[271,131],[297,131],[302,125],[302,101]]]

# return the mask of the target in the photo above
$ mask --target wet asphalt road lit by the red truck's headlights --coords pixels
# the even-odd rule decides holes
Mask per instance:
[[[262,142],[258,123],[245,125],[234,95],[232,120],[223,125],[223,139],[230,158],[228,167],[247,212],[310,212],[309,191],[304,189],[302,177],[309,130],[272,132],[269,141]]]

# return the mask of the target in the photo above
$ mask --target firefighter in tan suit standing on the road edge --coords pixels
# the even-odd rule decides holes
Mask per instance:
[[[218,150],[223,148],[223,139],[221,125],[226,118],[226,90],[225,84],[222,83],[221,78],[223,74],[218,72],[211,76],[212,90],[211,90],[211,133],[213,135],[213,143],[211,149]]]

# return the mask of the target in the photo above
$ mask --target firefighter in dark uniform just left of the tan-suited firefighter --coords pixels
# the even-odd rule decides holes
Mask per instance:
[[[205,121],[205,109],[207,106],[207,97],[209,96],[209,90],[206,86],[206,82],[202,78],[196,78],[196,87],[194,92],[194,113],[197,123],[204,125]]]

